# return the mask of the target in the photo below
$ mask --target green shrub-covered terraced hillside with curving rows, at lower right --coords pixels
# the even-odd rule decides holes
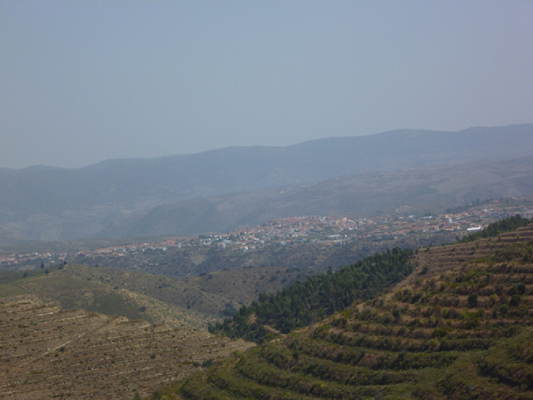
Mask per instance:
[[[154,398],[533,399],[533,225],[414,261],[382,296]]]

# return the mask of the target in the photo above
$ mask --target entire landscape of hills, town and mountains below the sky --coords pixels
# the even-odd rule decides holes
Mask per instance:
[[[0,397],[531,398],[532,127],[0,169]]]

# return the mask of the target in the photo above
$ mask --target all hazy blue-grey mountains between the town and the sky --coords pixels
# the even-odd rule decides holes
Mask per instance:
[[[196,234],[291,215],[533,194],[532,155],[533,124],[523,124],[403,129],[79,169],[0,168],[0,243]]]

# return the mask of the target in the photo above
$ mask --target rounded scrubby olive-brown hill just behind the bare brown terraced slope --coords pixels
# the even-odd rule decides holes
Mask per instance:
[[[59,267],[0,272],[0,299],[31,294],[63,308],[205,329],[259,293],[275,292],[304,276],[297,269],[275,267],[184,278],[87,265]]]

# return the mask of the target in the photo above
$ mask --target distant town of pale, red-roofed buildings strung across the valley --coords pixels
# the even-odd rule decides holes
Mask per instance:
[[[450,210],[449,210],[450,211]],[[294,243],[321,243],[325,246],[343,246],[353,240],[387,240],[402,235],[453,231],[463,236],[507,216],[533,216],[533,197],[491,200],[473,205],[467,210],[437,215],[381,215],[366,218],[334,216],[302,216],[280,218],[247,230],[219,234],[202,234],[195,238],[165,238],[157,242],[131,243],[87,251],[10,254],[0,256],[0,266],[51,265],[84,256],[124,256],[147,250],[167,251],[169,248],[216,246],[240,251],[267,246],[288,246]]]

